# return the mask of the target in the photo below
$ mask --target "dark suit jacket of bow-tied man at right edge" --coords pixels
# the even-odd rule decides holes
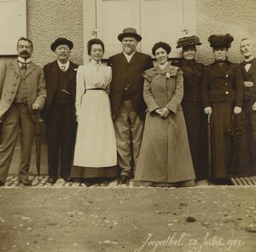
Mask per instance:
[[[246,72],[243,62],[240,64],[241,66],[241,74],[244,82],[252,82],[253,87],[245,88],[245,99],[250,100],[251,106],[256,102],[256,59],[253,59],[253,63],[249,68],[249,71]]]

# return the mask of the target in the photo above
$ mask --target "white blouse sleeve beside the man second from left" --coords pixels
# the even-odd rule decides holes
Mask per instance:
[[[76,89],[76,115],[79,115],[80,112],[80,106],[82,103],[83,95],[85,93],[85,80],[84,80],[84,72],[83,72],[83,66],[79,66],[78,72],[77,72],[77,89]]]

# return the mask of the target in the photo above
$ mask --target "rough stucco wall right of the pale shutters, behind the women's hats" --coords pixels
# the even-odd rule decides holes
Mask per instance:
[[[207,41],[210,35],[230,33],[235,39],[229,59],[239,62],[241,39],[251,37],[256,42],[256,0],[196,0],[196,31],[203,43],[198,47],[198,60],[207,64],[213,60]]]

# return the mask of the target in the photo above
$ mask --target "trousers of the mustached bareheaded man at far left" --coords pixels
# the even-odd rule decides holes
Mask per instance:
[[[20,133],[20,168],[18,179],[28,176],[31,161],[32,143],[36,123],[32,121],[29,110],[24,103],[13,103],[3,116],[0,136],[0,180],[4,183],[12,161],[15,144]]]

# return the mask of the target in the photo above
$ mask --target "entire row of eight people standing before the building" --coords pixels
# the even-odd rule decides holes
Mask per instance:
[[[122,52],[107,66],[104,43],[96,38],[87,43],[90,63],[78,66],[69,60],[73,42],[59,37],[50,46],[57,59],[42,70],[30,61],[32,41],[20,38],[18,60],[0,66],[0,186],[19,132],[19,181],[32,185],[28,170],[38,111],[46,126],[51,184],[59,168],[62,179],[79,178],[88,186],[116,177],[118,185],[134,178],[134,186],[195,186],[195,180],[229,183],[256,174],[250,39],[241,41],[245,61],[238,65],[227,59],[234,38],[210,36],[215,61],[209,66],[195,60],[201,45],[196,36],[178,39],[183,59],[171,64],[171,46],[155,43],[155,66],[137,52],[142,37],[134,28],[118,39]]]

